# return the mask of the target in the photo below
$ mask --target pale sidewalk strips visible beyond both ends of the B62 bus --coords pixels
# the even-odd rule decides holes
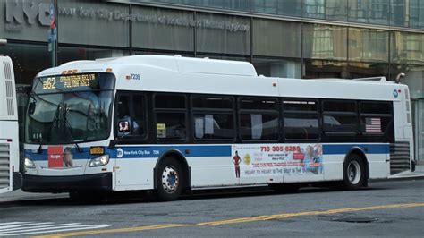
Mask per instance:
[[[415,172],[405,172],[389,177],[389,180],[413,180],[424,179],[424,165],[416,166]],[[386,181],[386,180],[378,180]],[[372,181],[371,181],[372,182]],[[64,193],[33,193],[21,190],[0,194],[0,204],[2,202],[23,201],[23,200],[47,200],[69,198],[69,194]]]

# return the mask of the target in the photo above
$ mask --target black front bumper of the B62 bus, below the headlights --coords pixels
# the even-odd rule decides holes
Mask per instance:
[[[23,174],[22,191],[112,191],[112,173],[77,176],[37,176]]]

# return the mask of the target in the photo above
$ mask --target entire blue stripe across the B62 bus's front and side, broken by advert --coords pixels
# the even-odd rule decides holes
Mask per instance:
[[[362,149],[366,154],[388,154],[390,152],[389,144],[323,144],[323,155],[345,155],[355,147]],[[73,159],[97,157],[89,155],[89,148],[81,149],[82,153],[76,153],[76,149],[73,150]],[[161,157],[170,149],[180,151],[184,157],[232,157],[231,145],[118,146],[115,149],[106,148],[106,153],[111,157],[117,157],[118,149],[122,149],[122,158]],[[47,160],[47,149],[43,149],[40,154],[26,149],[25,156],[36,161]]]

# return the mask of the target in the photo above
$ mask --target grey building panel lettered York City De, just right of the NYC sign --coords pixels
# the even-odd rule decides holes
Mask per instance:
[[[58,1],[60,43],[130,46],[129,6],[100,1]]]

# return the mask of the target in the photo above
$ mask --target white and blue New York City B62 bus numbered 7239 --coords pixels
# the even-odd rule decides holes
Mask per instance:
[[[39,72],[24,191],[294,190],[411,170],[408,87],[258,76],[246,62],[135,55]]]

